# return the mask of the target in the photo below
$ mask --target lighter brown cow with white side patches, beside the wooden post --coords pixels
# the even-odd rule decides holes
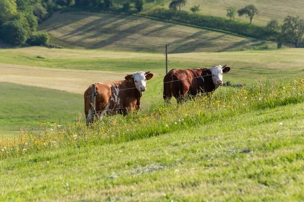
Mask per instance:
[[[140,107],[140,97],[146,90],[146,81],[150,80],[153,74],[150,72],[134,72],[128,74],[125,80],[95,83],[95,112],[99,119],[105,113],[124,114]],[[85,91],[85,114],[87,124],[92,118],[91,114],[92,85]]]

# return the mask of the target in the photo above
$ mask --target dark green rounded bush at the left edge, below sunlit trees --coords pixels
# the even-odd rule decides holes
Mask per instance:
[[[5,23],[0,30],[0,36],[5,42],[12,45],[22,45],[28,36],[28,32],[18,20]]]

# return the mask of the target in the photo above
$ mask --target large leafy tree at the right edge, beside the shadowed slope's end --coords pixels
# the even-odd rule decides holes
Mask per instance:
[[[299,42],[304,34],[304,20],[299,16],[287,16],[282,25],[282,31],[277,38],[278,48],[284,42],[291,42],[299,47]]]

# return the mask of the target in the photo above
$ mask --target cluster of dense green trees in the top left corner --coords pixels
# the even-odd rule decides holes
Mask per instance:
[[[46,43],[48,34],[36,29],[54,8],[52,0],[0,0],[0,39],[12,45]]]

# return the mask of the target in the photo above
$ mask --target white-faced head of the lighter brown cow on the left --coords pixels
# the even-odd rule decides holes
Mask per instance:
[[[140,92],[144,92],[146,90],[146,82],[153,77],[153,74],[150,72],[134,72],[133,74],[127,74],[125,79],[132,83],[135,83],[137,90]]]

